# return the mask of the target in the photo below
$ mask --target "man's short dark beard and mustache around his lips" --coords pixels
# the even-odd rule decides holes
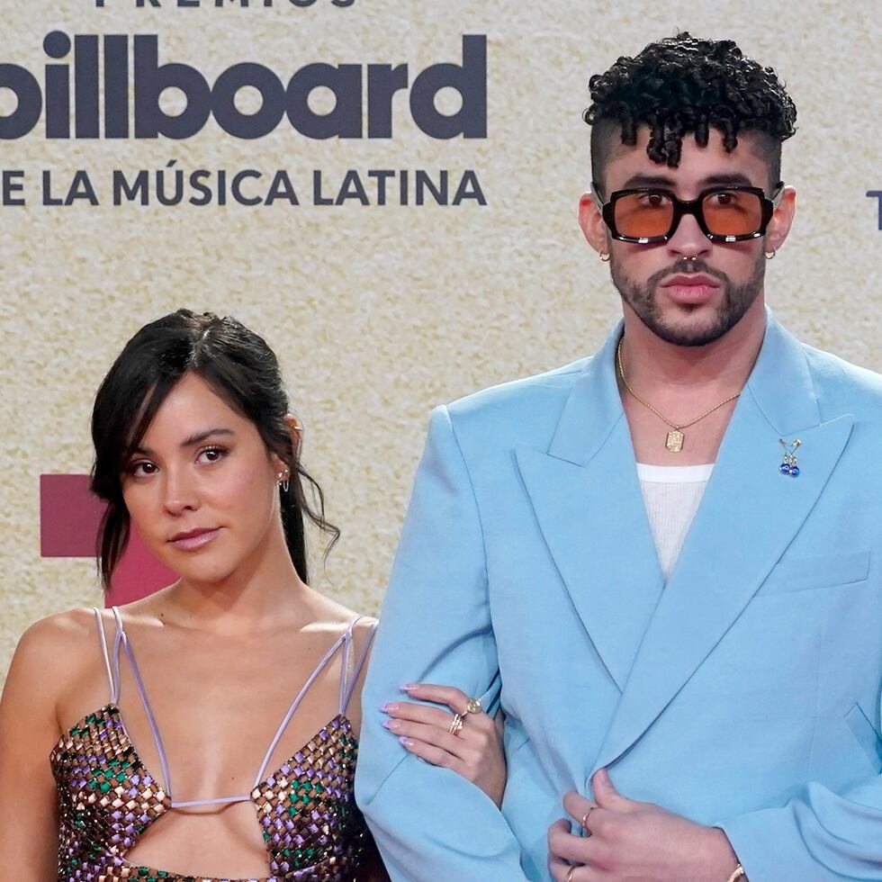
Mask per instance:
[[[719,270],[711,269],[703,260],[680,260],[674,266],[660,270],[650,276],[646,284],[637,284],[629,279],[618,266],[616,257],[609,263],[613,284],[618,293],[644,325],[650,329],[656,337],[662,338],[666,343],[680,347],[703,347],[723,337],[743,319],[757,296],[762,291],[762,284],[766,275],[766,262],[760,256],[754,266],[753,275],[744,284],[733,284],[732,279]],[[716,308],[716,321],[709,327],[694,331],[671,328],[664,323],[662,312],[655,302],[653,293],[662,279],[667,276],[678,275],[709,275],[721,283],[723,300]]]

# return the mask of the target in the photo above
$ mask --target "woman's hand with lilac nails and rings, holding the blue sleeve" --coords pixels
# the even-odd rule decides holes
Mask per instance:
[[[416,683],[401,689],[413,698],[443,705],[445,709],[411,701],[392,701],[381,708],[390,717],[383,725],[398,735],[404,747],[415,756],[433,766],[454,770],[501,806],[506,782],[502,712],[496,719],[484,711],[466,713],[468,696],[450,686]],[[454,714],[464,715],[463,725],[456,734],[450,731]]]

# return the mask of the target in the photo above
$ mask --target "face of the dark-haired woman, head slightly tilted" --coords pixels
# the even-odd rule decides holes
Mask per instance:
[[[162,563],[185,581],[218,582],[256,560],[274,533],[282,536],[284,470],[252,422],[197,374],[185,374],[131,455],[122,495]]]

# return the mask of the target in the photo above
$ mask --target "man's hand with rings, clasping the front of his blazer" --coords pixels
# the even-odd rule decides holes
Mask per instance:
[[[577,793],[563,797],[590,836],[572,835],[564,820],[549,828],[548,866],[556,882],[726,882],[734,872],[738,859],[722,830],[623,797],[605,769],[591,785],[596,805]]]

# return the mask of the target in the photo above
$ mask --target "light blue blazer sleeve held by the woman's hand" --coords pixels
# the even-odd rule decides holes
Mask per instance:
[[[401,685],[456,686],[491,712],[500,692],[481,520],[450,415],[429,421],[362,692],[356,800],[393,882],[526,879],[500,810],[455,772],[383,728]]]

